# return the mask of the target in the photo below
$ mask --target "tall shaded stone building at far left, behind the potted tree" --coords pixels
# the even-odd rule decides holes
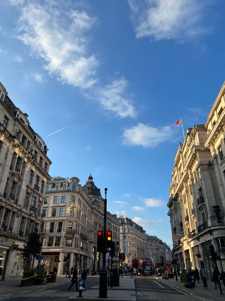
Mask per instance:
[[[0,83],[0,279],[21,278],[23,244],[42,222],[41,210],[51,161],[28,115]]]

